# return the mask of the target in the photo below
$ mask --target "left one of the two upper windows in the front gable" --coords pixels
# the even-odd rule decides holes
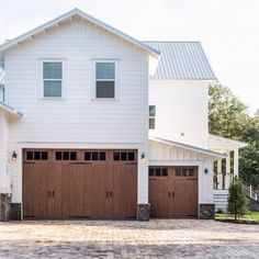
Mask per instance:
[[[43,63],[44,98],[60,98],[63,85],[63,63]]]

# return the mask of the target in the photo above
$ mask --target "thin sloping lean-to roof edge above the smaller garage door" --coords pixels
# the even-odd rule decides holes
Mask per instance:
[[[151,137],[149,136],[149,139],[154,140],[154,142],[162,143],[162,144],[166,144],[166,145],[184,148],[184,149],[188,149],[188,150],[191,150],[191,151],[196,151],[196,153],[207,155],[207,156],[211,156],[211,157],[226,158],[225,154],[212,151],[210,149],[205,149],[205,148],[201,148],[201,147],[187,145],[187,144],[179,143],[179,142],[173,142],[171,139],[165,139],[165,138],[154,137],[154,136],[151,136]]]

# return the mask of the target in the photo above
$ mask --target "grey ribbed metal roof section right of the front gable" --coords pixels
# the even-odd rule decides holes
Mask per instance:
[[[215,80],[200,42],[144,42],[160,52],[154,79]]]

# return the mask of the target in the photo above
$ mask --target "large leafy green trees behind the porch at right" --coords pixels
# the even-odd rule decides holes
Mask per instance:
[[[232,91],[221,85],[210,87],[210,133],[249,145],[240,150],[240,176],[250,184],[259,185],[259,110],[250,116],[245,105]]]

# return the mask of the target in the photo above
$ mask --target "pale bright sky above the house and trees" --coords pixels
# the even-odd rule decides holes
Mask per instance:
[[[259,0],[0,0],[0,43],[76,7],[140,41],[201,41],[218,80],[259,108]]]

